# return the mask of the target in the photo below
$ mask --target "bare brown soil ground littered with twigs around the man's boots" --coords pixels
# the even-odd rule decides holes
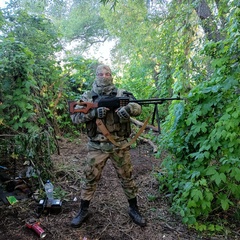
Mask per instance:
[[[26,227],[26,222],[36,218],[45,230],[48,240],[214,240],[240,239],[239,235],[201,236],[184,226],[175,214],[169,211],[168,199],[158,192],[154,170],[160,167],[151,146],[138,143],[131,149],[134,178],[139,187],[140,211],[147,219],[147,226],[141,228],[128,216],[128,204],[123,190],[108,161],[94,199],[90,205],[87,221],[77,229],[71,228],[71,219],[80,203],[83,162],[87,154],[86,136],[74,142],[59,140],[60,155],[53,155],[55,187],[61,187],[67,195],[62,201],[59,214],[42,214],[36,218],[37,202],[33,198],[22,198],[13,206],[0,205],[0,240],[34,240],[39,236]],[[154,196],[149,201],[149,196]]]

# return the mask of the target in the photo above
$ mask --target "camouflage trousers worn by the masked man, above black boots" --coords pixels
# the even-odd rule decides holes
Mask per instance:
[[[81,191],[81,199],[90,201],[96,191],[102,170],[110,159],[121,181],[127,199],[135,198],[138,188],[132,178],[132,163],[129,148],[113,149],[110,152],[90,148],[85,163],[85,179]]]

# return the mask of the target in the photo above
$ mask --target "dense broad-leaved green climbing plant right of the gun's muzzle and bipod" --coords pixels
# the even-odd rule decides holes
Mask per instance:
[[[160,191],[171,193],[172,210],[198,230],[221,230],[219,223],[208,223],[212,217],[237,217],[240,211],[237,21],[226,40],[205,46],[204,53],[212,58],[211,79],[192,89],[185,103],[172,105],[159,138],[173,154],[156,173]]]

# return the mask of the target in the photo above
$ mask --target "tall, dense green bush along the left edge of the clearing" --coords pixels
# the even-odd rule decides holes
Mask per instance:
[[[9,10],[9,9],[8,9]],[[4,12],[0,45],[0,131],[15,137],[16,155],[30,159],[50,174],[50,155],[56,149],[57,111],[63,89],[53,53],[58,35],[44,17],[23,10]],[[61,100],[62,101],[62,100]],[[66,109],[66,107],[65,107]]]

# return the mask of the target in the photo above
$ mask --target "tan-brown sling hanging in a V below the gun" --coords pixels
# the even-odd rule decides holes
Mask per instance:
[[[131,146],[136,140],[137,138],[140,136],[140,134],[144,131],[144,129],[146,128],[148,121],[149,121],[150,117],[148,117],[144,124],[142,125],[142,127],[139,129],[139,131],[137,132],[137,134],[130,140],[130,142],[127,142],[125,144],[123,144],[122,146],[116,142],[114,140],[114,138],[112,137],[112,135],[110,134],[110,132],[107,130],[106,126],[104,125],[104,123],[102,122],[101,119],[97,119],[96,120],[96,124],[98,126],[98,128],[100,129],[100,131],[102,132],[102,134],[115,146],[120,147],[120,149],[124,149],[127,148],[129,146]]]

